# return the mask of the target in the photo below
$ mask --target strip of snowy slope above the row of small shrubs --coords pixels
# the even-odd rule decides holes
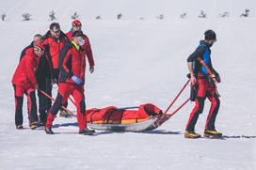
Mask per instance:
[[[238,17],[245,9],[250,9],[250,17],[256,17],[253,0],[8,0],[1,2],[0,12],[6,13],[8,20],[21,21],[22,14],[29,12],[34,21],[47,21],[51,10],[56,11],[56,18],[61,22],[71,19],[77,12],[83,20],[95,20],[101,16],[104,20],[114,20],[119,13],[124,19],[138,20],[140,17],[155,19],[164,14],[166,19],[177,19],[183,12],[187,17],[196,18],[200,10],[208,18],[216,18],[225,11],[232,18]]]

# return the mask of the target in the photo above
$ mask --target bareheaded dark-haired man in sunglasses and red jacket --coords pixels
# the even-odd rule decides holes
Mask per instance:
[[[43,37],[45,44],[45,53],[49,55],[52,64],[52,81],[53,84],[58,83],[59,70],[58,70],[58,58],[59,52],[64,47],[65,43],[69,41],[65,33],[60,30],[60,25],[58,23],[51,23],[50,30]],[[68,106],[68,102],[64,103],[64,106]],[[60,116],[70,117],[71,115],[67,113],[62,108],[60,109]]]

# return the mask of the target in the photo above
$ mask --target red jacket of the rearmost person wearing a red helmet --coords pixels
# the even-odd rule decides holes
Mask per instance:
[[[68,37],[68,39],[70,41],[72,41],[72,31],[66,33],[66,36]],[[89,39],[88,37],[85,35],[85,44],[81,47],[82,50],[82,54],[84,54],[85,56],[88,56],[88,64],[89,66],[94,66],[94,59],[93,59],[93,55],[92,55],[92,51],[91,51],[91,47],[90,47],[90,43],[89,43]]]

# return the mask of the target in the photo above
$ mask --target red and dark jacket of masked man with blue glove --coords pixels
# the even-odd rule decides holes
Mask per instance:
[[[59,83],[71,83],[72,75],[75,75],[82,79],[85,83],[85,71],[86,71],[86,56],[82,54],[80,50],[76,50],[72,42],[66,43],[64,48],[59,53]]]

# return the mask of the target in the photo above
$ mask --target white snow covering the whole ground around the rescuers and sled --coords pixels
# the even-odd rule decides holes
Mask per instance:
[[[56,7],[56,8],[54,8]],[[250,9],[248,18],[239,15]],[[187,81],[186,58],[206,29],[214,29],[213,64],[222,83],[216,129],[224,140],[184,139],[193,102],[155,131],[97,131],[77,134],[76,119],[57,117],[55,135],[28,129],[24,100],[24,131],[15,130],[14,98],[10,84],[19,55],[36,33],[51,23],[50,10],[64,32],[71,15],[81,15],[90,39],[95,72],[87,70],[87,107],[136,106],[152,102],[163,110]],[[198,18],[200,9],[207,19]],[[180,14],[187,11],[185,20]],[[229,18],[218,14],[230,12]],[[30,12],[32,21],[22,22]],[[56,0],[2,1],[0,14],[0,169],[256,169],[256,2],[253,0]],[[116,20],[122,13],[123,20]],[[165,14],[164,20],[155,17]],[[95,20],[101,15],[103,20]],[[144,17],[144,21],[138,20]],[[56,92],[54,93],[56,95]],[[186,89],[174,110],[189,96]],[[72,104],[70,108],[74,110]],[[203,132],[209,102],[205,102],[196,130]]]

